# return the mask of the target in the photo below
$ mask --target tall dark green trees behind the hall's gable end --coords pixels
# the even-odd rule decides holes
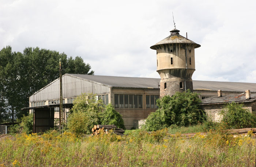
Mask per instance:
[[[25,48],[23,53],[12,52],[11,46],[0,50],[0,121],[14,122],[27,111],[29,96],[59,77],[59,59],[62,73],[75,72],[93,75],[89,64],[76,57],[74,65],[65,53],[37,48]],[[72,57],[69,58],[72,60]]]

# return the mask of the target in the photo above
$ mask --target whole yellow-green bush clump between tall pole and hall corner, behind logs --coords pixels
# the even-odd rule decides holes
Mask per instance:
[[[112,105],[104,107],[102,100],[96,100],[94,95],[82,94],[74,101],[68,116],[68,130],[76,135],[90,134],[93,126],[97,124],[114,124],[125,129],[121,114]]]

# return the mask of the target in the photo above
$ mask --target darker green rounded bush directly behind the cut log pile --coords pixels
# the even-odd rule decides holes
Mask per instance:
[[[118,128],[125,129],[122,115],[109,104],[106,106],[101,117],[102,125],[116,125]]]

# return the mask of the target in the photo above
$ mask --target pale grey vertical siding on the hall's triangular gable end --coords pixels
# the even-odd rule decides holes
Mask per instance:
[[[62,79],[63,98],[77,97],[82,93],[104,94],[109,93],[109,87],[90,81],[78,79],[68,75]],[[60,80],[54,81],[43,90],[30,96],[30,102],[52,100],[60,98]]]

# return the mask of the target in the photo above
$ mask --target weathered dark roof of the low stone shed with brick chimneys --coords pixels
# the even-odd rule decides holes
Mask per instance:
[[[253,102],[256,100],[256,94],[251,94],[251,99],[245,99],[245,93],[240,95],[231,95],[231,96],[213,96],[210,98],[202,99],[200,105],[206,104],[216,104],[216,103],[231,103],[231,102]]]

